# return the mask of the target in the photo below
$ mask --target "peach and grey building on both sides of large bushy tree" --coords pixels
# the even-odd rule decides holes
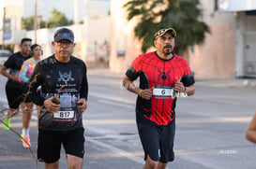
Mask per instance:
[[[255,42],[254,16],[247,11],[223,11],[225,0],[201,0],[203,21],[210,27],[202,45],[194,45],[184,52],[196,78],[234,78],[256,75],[253,48]],[[230,0],[230,4],[239,0]],[[248,0],[249,1],[249,0]],[[248,1],[238,2],[248,4]],[[112,49],[110,69],[124,72],[141,53],[141,43],[133,35],[135,22],[126,20],[123,5],[127,0],[112,0]],[[253,7],[250,8],[250,10]],[[179,33],[177,33],[178,35]],[[154,50],[154,48],[150,49]]]

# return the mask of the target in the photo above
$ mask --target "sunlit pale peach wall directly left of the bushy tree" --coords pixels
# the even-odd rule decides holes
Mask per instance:
[[[123,5],[127,0],[112,0],[112,42],[110,69],[125,72],[132,60],[141,53],[141,43],[132,32],[133,22],[128,22]],[[118,53],[120,54],[118,56]],[[125,55],[122,55],[125,54]],[[122,56],[121,56],[122,55]]]

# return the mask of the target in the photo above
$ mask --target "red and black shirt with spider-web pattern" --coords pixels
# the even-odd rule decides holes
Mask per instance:
[[[166,88],[172,89],[176,80],[181,80],[184,86],[192,85],[194,77],[186,60],[176,54],[169,60],[161,59],[157,52],[139,55],[126,73],[130,80],[140,77],[140,89]],[[152,96],[145,100],[138,96],[136,112],[143,113],[143,117],[158,125],[167,125],[175,118],[176,98]],[[142,116],[137,116],[138,117]]]

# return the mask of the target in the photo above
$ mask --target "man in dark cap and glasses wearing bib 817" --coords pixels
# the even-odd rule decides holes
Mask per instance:
[[[54,54],[36,65],[28,82],[28,99],[41,106],[38,161],[45,162],[46,168],[58,168],[63,145],[68,168],[82,168],[83,112],[88,94],[86,65],[71,56],[75,47],[71,30],[57,30],[52,45]]]

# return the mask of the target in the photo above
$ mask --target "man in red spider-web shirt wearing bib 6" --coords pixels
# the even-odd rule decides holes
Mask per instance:
[[[174,160],[175,104],[177,93],[192,95],[194,77],[186,60],[173,53],[176,31],[158,30],[154,52],[139,55],[128,68],[123,85],[138,94],[136,120],[147,168],[165,168]],[[140,87],[133,80],[140,77]]]

